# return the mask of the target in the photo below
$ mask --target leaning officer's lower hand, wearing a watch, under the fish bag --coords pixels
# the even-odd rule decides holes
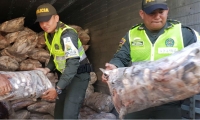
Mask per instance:
[[[55,88],[49,88],[47,91],[45,91],[42,95],[42,99],[44,100],[49,100],[49,101],[52,101],[52,100],[55,100],[56,97],[57,97],[57,92],[56,92],[56,89]]]

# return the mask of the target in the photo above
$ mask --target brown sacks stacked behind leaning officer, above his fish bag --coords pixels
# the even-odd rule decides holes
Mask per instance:
[[[78,31],[78,36],[85,51],[89,48],[89,30],[71,25]],[[0,25],[0,70],[21,71],[43,67],[49,61],[44,32],[36,33],[24,27],[24,17],[6,21]]]

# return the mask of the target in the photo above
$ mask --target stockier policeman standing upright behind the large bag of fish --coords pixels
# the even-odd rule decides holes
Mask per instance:
[[[127,67],[134,62],[155,61],[194,43],[198,33],[180,22],[167,19],[166,0],[142,0],[139,11],[143,23],[132,27],[121,39],[107,70]],[[102,75],[105,82],[106,76]],[[181,119],[181,102],[175,101],[124,116],[125,119]]]

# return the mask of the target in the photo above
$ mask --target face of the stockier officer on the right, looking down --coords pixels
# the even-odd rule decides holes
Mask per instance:
[[[168,11],[157,9],[150,14],[146,14],[143,10],[140,10],[140,16],[148,30],[152,32],[159,31],[166,24]]]

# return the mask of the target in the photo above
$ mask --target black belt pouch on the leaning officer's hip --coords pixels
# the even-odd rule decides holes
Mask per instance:
[[[86,63],[86,64],[82,64],[78,67],[77,73],[81,74],[81,73],[90,73],[93,72],[93,68],[92,68],[92,64],[90,63]]]

